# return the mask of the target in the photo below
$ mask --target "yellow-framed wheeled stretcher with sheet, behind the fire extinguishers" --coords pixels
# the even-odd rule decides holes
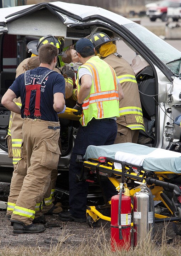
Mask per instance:
[[[83,161],[79,180],[97,182],[102,177],[107,177],[115,189],[120,182],[125,183],[125,193],[131,199],[140,190],[135,181],[146,182],[154,201],[162,201],[170,213],[155,213],[155,222],[181,221],[181,153],[134,143],[91,145],[88,146],[84,159],[79,161]],[[97,226],[99,219],[111,221],[111,217],[102,214],[104,209],[110,207],[111,201],[103,206],[88,206],[89,226]],[[180,234],[176,226],[174,231]]]

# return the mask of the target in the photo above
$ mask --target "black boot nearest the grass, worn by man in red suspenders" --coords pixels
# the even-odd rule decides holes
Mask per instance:
[[[25,226],[24,224],[20,224],[17,222],[13,223],[13,233],[15,234],[22,234],[22,233],[42,233],[45,231],[44,225],[34,225],[33,223],[31,225]]]

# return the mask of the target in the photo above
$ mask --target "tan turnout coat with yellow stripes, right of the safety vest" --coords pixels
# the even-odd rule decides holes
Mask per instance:
[[[116,121],[118,133],[126,137],[129,130],[132,133],[138,130],[145,131],[138,85],[130,64],[124,58],[117,56],[117,54],[111,54],[103,60],[115,70],[124,93],[124,99],[119,102],[119,117],[117,117]],[[136,133],[138,138],[138,132]],[[130,138],[127,138],[116,143],[121,142],[135,141],[130,141]]]

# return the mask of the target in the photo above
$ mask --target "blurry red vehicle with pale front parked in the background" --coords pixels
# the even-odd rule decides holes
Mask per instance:
[[[178,2],[178,1],[177,0],[171,0],[171,1],[164,0],[164,1],[160,2],[158,6],[149,7],[149,9],[147,11],[147,15],[149,16],[149,19],[151,21],[155,21],[157,18],[160,18],[162,21],[167,21],[168,20],[167,8],[175,2]]]

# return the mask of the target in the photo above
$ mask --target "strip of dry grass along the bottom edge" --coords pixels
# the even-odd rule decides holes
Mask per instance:
[[[166,230],[166,226],[165,229]],[[135,248],[131,247],[129,251],[121,251],[120,249],[112,252],[109,241],[104,237],[104,227],[99,230],[95,229],[95,234],[91,238],[85,235],[82,242],[71,244],[72,234],[64,232],[59,238],[58,244],[51,244],[49,249],[44,247],[11,247],[6,246],[0,249],[0,256],[181,256],[181,245],[179,238],[171,244],[167,244],[168,238],[163,231],[162,239],[157,244],[157,234],[154,241],[148,237],[142,240]]]

